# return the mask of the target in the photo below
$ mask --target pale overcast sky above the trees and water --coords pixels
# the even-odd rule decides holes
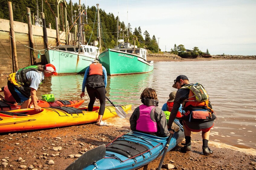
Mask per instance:
[[[256,55],[256,0],[81,0],[97,3],[107,14],[119,12],[132,31],[155,35],[161,51],[182,44],[212,55]]]

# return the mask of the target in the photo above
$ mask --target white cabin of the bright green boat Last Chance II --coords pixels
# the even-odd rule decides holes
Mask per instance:
[[[118,44],[117,48],[112,48],[112,50],[116,51],[122,51],[130,54],[134,54],[134,45],[131,45],[128,42],[122,42]],[[147,50],[144,48],[138,48],[137,45],[135,45],[135,54],[145,60],[147,60]]]

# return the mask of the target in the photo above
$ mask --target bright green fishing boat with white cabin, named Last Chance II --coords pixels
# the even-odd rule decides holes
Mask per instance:
[[[154,61],[147,61],[147,51],[130,43],[120,43],[117,48],[109,48],[99,54],[100,63],[109,75],[151,72]]]

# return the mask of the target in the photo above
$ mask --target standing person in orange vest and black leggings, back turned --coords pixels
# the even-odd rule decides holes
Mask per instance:
[[[106,103],[106,87],[107,87],[107,71],[102,64],[99,63],[98,60],[93,60],[92,64],[86,69],[83,85],[82,85],[82,93],[80,97],[84,97],[85,88],[90,97],[90,102],[88,104],[88,111],[91,112],[93,109],[93,104],[95,102],[95,98],[99,99],[100,108],[99,108],[99,117],[97,119],[99,126],[107,125],[107,123],[102,121],[102,116],[105,111],[105,103]]]

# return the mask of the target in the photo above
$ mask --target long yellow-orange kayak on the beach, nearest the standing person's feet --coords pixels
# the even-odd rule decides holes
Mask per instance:
[[[127,112],[131,105],[122,106]],[[99,116],[99,106],[94,106],[92,112],[85,108],[45,107],[40,112],[34,109],[19,109],[0,111],[0,133],[11,131],[26,131],[34,129],[55,128],[96,122]],[[117,116],[115,107],[106,106],[102,120]]]

